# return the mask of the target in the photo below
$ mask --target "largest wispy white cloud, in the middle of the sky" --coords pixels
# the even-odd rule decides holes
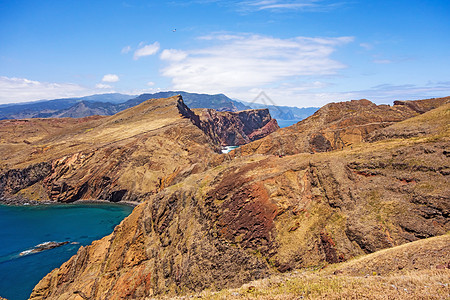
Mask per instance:
[[[281,88],[280,82],[301,86],[308,76],[336,74],[346,66],[330,58],[352,37],[279,39],[261,35],[209,35],[212,44],[191,50],[179,60],[168,60],[162,74],[172,88],[205,93],[226,93],[251,100],[252,89]],[[295,89],[294,89],[295,90]]]

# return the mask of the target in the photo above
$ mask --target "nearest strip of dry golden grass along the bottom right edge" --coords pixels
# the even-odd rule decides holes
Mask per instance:
[[[448,299],[449,270],[392,276],[320,275],[304,271],[255,281],[239,289],[203,292],[194,299]],[[181,298],[181,297],[180,297]]]

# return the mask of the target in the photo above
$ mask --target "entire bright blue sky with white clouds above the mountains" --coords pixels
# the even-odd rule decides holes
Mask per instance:
[[[450,1],[0,0],[0,104],[160,90],[450,95]]]

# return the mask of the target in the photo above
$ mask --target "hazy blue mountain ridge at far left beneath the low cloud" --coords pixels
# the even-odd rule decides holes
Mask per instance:
[[[124,94],[98,94],[80,98],[64,98],[54,100],[40,100],[17,104],[0,105],[0,120],[60,117],[66,110],[77,106],[80,102],[109,103],[110,106],[125,102],[135,96]],[[89,106],[89,105],[88,105]],[[94,115],[96,113],[87,114]],[[85,116],[85,115],[83,115]],[[74,116],[74,117],[83,117]]]

